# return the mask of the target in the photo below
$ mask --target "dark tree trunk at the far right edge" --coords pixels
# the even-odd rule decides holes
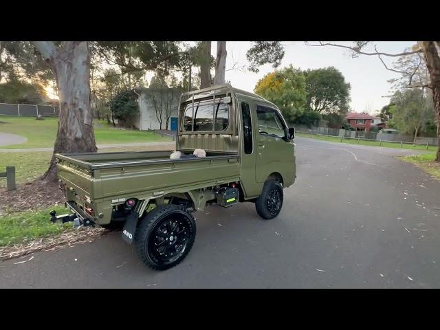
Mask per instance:
[[[435,117],[437,118],[438,148],[435,160],[440,162],[440,52],[437,50],[436,43],[440,49],[440,41],[423,41],[423,54],[430,74]]]

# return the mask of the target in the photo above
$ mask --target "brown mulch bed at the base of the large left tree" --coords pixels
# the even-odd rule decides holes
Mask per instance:
[[[64,203],[64,192],[58,182],[36,179],[28,184],[17,186],[16,190],[0,190],[0,216],[13,212],[48,208],[56,203]]]

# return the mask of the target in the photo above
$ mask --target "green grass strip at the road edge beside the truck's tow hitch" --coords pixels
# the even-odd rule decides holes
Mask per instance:
[[[6,214],[0,217],[0,247],[18,243],[27,243],[33,239],[53,234],[59,234],[72,229],[72,223],[64,225],[49,221],[49,212],[56,210],[65,214],[63,206],[54,206],[45,210],[32,210]]]

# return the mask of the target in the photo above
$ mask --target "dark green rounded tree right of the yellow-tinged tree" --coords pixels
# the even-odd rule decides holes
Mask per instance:
[[[307,107],[318,113],[344,114],[349,109],[350,89],[342,73],[335,67],[307,70]]]

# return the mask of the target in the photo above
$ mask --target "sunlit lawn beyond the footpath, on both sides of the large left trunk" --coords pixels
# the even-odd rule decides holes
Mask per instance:
[[[48,148],[54,146],[58,118],[45,117],[35,120],[34,117],[17,117],[0,115],[0,132],[14,133],[28,139],[23,144],[1,146],[0,148]],[[153,132],[135,131],[132,129],[114,129],[106,122],[100,121],[95,128],[96,144],[122,144],[138,142],[166,142],[170,137],[162,137]]]

